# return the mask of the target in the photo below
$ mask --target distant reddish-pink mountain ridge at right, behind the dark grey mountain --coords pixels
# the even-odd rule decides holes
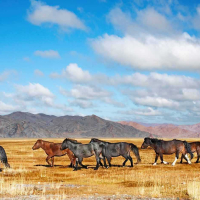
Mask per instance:
[[[174,124],[159,124],[147,126],[136,122],[119,122],[123,125],[132,126],[141,131],[157,135],[161,138],[195,138],[200,137],[200,123],[194,125],[174,125]]]

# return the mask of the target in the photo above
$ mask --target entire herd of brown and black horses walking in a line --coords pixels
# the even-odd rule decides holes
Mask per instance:
[[[156,138],[144,138],[144,142],[141,146],[141,149],[146,149],[151,147],[156,153],[155,162],[153,165],[157,164],[158,157],[160,157],[161,163],[168,164],[164,161],[163,155],[175,153],[175,160],[172,163],[174,166],[179,154],[181,154],[181,163],[183,159],[187,161],[188,164],[191,164],[193,158],[193,153],[197,152],[196,163],[199,162],[200,158],[200,142],[191,142],[188,143],[182,140],[170,140],[164,141]],[[132,143],[127,142],[117,142],[110,143],[103,141],[97,138],[92,138],[88,144],[82,144],[77,140],[66,138],[62,143],[53,143],[38,139],[34,146],[33,150],[42,148],[47,154],[46,162],[48,165],[54,167],[54,157],[55,156],[64,156],[68,155],[70,159],[70,167],[74,168],[74,171],[78,169],[78,164],[83,168],[88,168],[86,165],[83,165],[82,161],[84,158],[91,157],[95,155],[96,158],[96,167],[94,170],[97,170],[99,166],[108,168],[111,167],[112,157],[122,156],[125,158],[122,166],[126,165],[126,162],[129,160],[131,167],[133,167],[133,159],[131,157],[131,151],[134,153],[137,163],[141,162],[140,154],[138,147]],[[187,154],[190,154],[190,158]],[[191,159],[191,160],[190,160]],[[8,164],[6,152],[3,147],[0,146],[0,161],[5,165],[5,167],[10,167]],[[102,163],[103,161],[103,163]],[[108,165],[107,165],[107,163]]]

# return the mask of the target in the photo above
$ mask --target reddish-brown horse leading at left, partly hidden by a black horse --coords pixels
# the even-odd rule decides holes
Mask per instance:
[[[36,149],[42,148],[47,154],[46,162],[51,167],[54,167],[54,156],[60,157],[67,154],[71,161],[70,167],[73,167],[76,164],[76,157],[74,156],[72,151],[70,151],[69,149],[60,150],[61,144],[62,143],[53,143],[53,142],[48,142],[48,141],[39,139],[34,144],[32,149],[36,150]],[[49,159],[51,159],[51,163],[49,162]]]

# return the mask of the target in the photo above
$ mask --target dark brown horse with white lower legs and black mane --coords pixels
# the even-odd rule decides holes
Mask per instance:
[[[182,153],[185,158],[187,159],[188,164],[191,164],[187,153],[191,155],[191,159],[193,158],[193,154],[190,149],[190,145],[186,141],[181,140],[170,140],[170,141],[164,141],[164,140],[158,140],[155,138],[144,138],[144,142],[141,146],[141,149],[146,149],[148,146],[154,149],[156,152],[156,158],[153,165],[156,165],[158,156],[160,156],[161,163],[168,164],[163,160],[163,154],[176,154],[175,160],[172,163],[174,166],[176,164],[176,161],[179,157],[179,153]]]

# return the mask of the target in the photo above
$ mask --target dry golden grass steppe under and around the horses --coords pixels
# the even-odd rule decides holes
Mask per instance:
[[[62,142],[63,139],[45,139]],[[138,146],[142,162],[129,167],[121,167],[124,158],[112,159],[113,167],[99,168],[94,171],[95,157],[83,161],[89,169],[73,171],[69,168],[69,159],[55,157],[55,167],[49,167],[42,149],[32,150],[36,139],[1,139],[0,145],[7,153],[11,169],[1,168],[0,198],[2,199],[137,199],[200,198],[200,164],[196,154],[192,164],[171,166],[175,155],[164,155],[169,165],[152,166],[155,153],[152,149],[140,149],[143,139],[105,139],[110,142],[126,141]],[[195,141],[197,139],[187,139]],[[78,139],[88,143],[89,139]],[[133,161],[136,158],[133,154]],[[118,166],[119,165],[119,166]],[[2,165],[1,165],[2,167]]]

